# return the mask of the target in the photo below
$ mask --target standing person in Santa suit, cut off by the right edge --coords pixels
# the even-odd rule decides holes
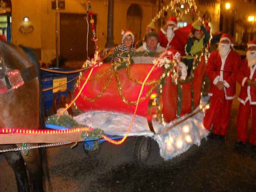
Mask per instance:
[[[249,142],[256,150],[256,39],[249,43],[246,56],[237,74],[241,91],[238,97],[240,105],[237,115],[237,142],[235,144],[242,145],[247,141],[248,120],[252,111],[252,131]]]

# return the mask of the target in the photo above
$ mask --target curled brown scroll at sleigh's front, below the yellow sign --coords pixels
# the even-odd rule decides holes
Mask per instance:
[[[68,97],[64,96],[64,95],[61,95],[60,96],[60,99],[59,99],[59,103],[61,105],[61,107],[57,107],[57,97],[62,93],[62,92],[67,92],[68,93]],[[71,92],[68,90],[68,89],[60,89],[58,90],[55,94],[54,94],[54,97],[53,97],[53,111],[54,113],[58,113],[59,112],[59,109],[65,109],[65,104],[69,104],[72,100],[72,94]],[[69,108],[68,109],[68,114],[73,114],[73,111],[72,111],[72,108]],[[68,115],[67,114],[67,115]]]

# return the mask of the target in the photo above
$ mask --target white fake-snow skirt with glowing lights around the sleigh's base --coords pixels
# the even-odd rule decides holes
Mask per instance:
[[[202,97],[200,106],[205,106],[209,97]],[[200,109],[198,106],[192,113]],[[179,125],[173,127],[163,134],[156,135],[152,133],[148,127],[147,118],[137,116],[134,119],[131,130],[128,136],[149,136],[157,141],[160,149],[160,155],[165,160],[172,159],[181,153],[187,151],[192,145],[200,145],[203,138],[207,139],[209,131],[203,126],[205,110],[200,111],[195,116],[188,118]],[[173,125],[190,114],[186,114],[174,121],[163,126],[161,123],[153,121],[154,130],[159,133],[167,127]],[[123,113],[113,113],[107,111],[88,111],[80,114],[74,119],[81,124],[89,127],[98,127],[109,135],[125,135],[131,123],[132,115]]]

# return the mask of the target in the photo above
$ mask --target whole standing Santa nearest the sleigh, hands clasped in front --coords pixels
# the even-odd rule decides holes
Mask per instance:
[[[232,100],[236,94],[236,74],[241,65],[240,55],[230,49],[232,42],[230,34],[222,34],[219,50],[211,53],[206,66],[211,81],[210,108],[206,110],[203,124],[209,131],[212,125],[209,138],[224,140],[228,131]]]

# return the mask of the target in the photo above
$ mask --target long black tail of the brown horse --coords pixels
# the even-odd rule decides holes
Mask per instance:
[[[23,49],[23,51],[26,53],[27,57],[33,63],[36,67],[37,71],[37,77],[39,81],[39,129],[45,129],[45,106],[44,106],[44,95],[43,95],[43,86],[41,83],[41,71],[40,71],[40,64],[38,62],[37,55],[32,48],[20,47]],[[49,176],[49,167],[48,167],[48,160],[47,160],[47,151],[45,147],[39,148],[40,153],[40,164],[42,166],[42,172],[43,172],[43,184],[44,188],[46,189],[46,183],[48,183],[49,189],[51,189],[51,182],[50,182],[50,176]]]

